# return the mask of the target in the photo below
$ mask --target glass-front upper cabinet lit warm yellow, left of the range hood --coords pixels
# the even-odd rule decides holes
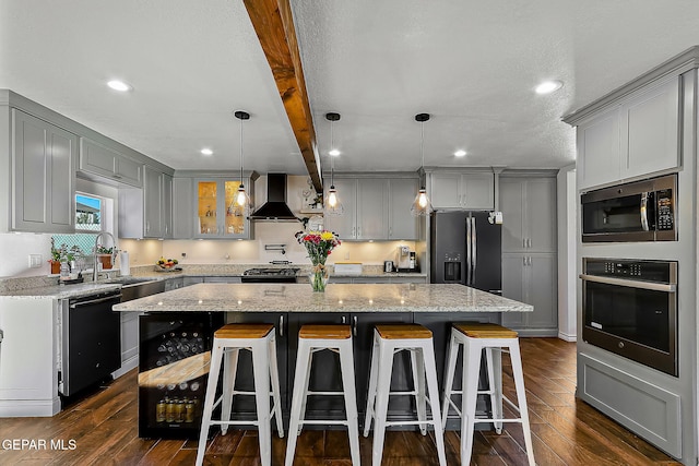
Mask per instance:
[[[252,202],[254,178],[257,177],[242,178]],[[233,208],[234,196],[239,187],[239,177],[194,179],[194,238],[252,238],[250,219]]]

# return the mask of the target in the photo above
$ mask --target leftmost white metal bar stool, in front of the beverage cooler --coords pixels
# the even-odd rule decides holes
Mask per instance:
[[[254,392],[241,392],[235,390],[238,353],[247,349],[252,354],[252,372],[254,378]],[[226,356],[223,375],[223,394],[215,399],[221,361]],[[270,413],[270,379],[272,380],[272,398],[274,406]],[[257,406],[256,420],[230,420],[234,395],[254,395]],[[221,420],[211,419],[212,413],[218,404],[222,405]],[[222,434],[228,430],[228,426],[253,425],[258,427],[260,438],[260,459],[262,465],[272,463],[272,428],[271,418],[276,418],[276,429],[280,437],[284,437],[282,426],[282,402],[280,397],[280,378],[276,366],[276,340],[274,338],[274,325],[272,324],[227,324],[214,332],[213,349],[211,351],[211,367],[206,396],[202,413],[201,432],[199,434],[199,447],[197,450],[197,466],[204,459],[206,450],[206,437],[209,427],[221,426]]]

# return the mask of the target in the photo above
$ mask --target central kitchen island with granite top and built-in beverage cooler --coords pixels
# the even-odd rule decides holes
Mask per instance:
[[[114,310],[144,313],[140,316],[140,437],[196,438],[198,418],[189,423],[155,419],[157,405],[164,399],[203,399],[205,370],[192,371],[192,367],[197,361],[200,367],[205,367],[208,353],[197,356],[179,355],[177,351],[173,351],[174,355],[165,353],[163,343],[170,340],[168,335],[178,338],[186,333],[200,334],[203,328],[211,332],[224,322],[273,323],[276,327],[282,408],[287,422],[300,326],[306,323],[350,324],[354,338],[357,405],[359,419],[363,420],[376,324],[418,323],[430,328],[435,340],[438,378],[441,382],[452,322],[499,323],[502,312],[531,312],[533,308],[462,285],[330,284],[325,292],[313,292],[308,284],[198,284],[116,304]],[[192,331],[191,326],[187,327],[188,321],[201,325],[208,323],[209,327],[203,325]],[[158,327],[159,333],[153,331]],[[209,337],[199,343],[203,344],[203,347],[211,344]],[[191,346],[191,340],[187,344]],[[165,360],[167,356],[170,358]],[[248,356],[245,351],[240,356],[237,390],[253,390]],[[391,381],[392,391],[412,390],[411,363],[407,356],[396,356]],[[342,383],[334,354],[321,351],[313,358],[318,359],[313,362],[310,389],[341,390]],[[177,366],[186,366],[186,370],[174,370]],[[499,374],[499,371],[496,371],[496,374]],[[455,379],[460,380],[459,375]],[[499,378],[496,383],[500,383]],[[192,390],[192,386],[197,390]],[[478,405],[479,411],[486,411],[488,408],[485,403]],[[389,406],[389,416],[394,419],[412,418],[413,411],[414,402],[410,397],[396,398]],[[254,403],[251,399],[236,399],[234,414],[244,419],[251,418],[254,414]],[[329,416],[342,418],[342,398],[311,397],[307,404],[306,416],[309,419]],[[458,422],[452,420],[448,428],[457,426]]]

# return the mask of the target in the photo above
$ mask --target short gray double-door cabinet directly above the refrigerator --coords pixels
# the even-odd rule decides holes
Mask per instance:
[[[488,210],[495,205],[491,171],[431,171],[429,178],[429,200],[434,208]]]

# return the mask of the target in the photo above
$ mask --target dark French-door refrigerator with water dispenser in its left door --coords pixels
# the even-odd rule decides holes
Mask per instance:
[[[487,212],[436,212],[430,222],[431,283],[502,294],[501,225]]]

